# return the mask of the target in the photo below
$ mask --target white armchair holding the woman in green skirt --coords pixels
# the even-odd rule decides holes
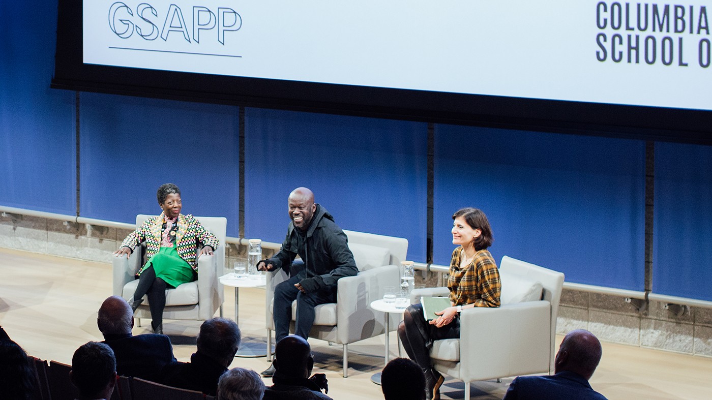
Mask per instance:
[[[136,226],[141,226],[151,216],[140,214],[136,216]],[[213,233],[220,244],[213,252],[213,256],[203,255],[198,258],[198,280],[184,283],[175,289],[167,290],[166,307],[163,312],[167,320],[209,320],[215,315],[216,310],[221,310],[224,301],[223,285],[218,277],[225,264],[225,237],[227,219],[224,217],[195,217],[200,223]],[[200,248],[197,249],[200,251]],[[122,298],[133,295],[138,285],[135,275],[144,262],[145,247],[139,244],[131,256],[114,257],[113,264],[113,294]],[[137,325],[141,326],[141,318],[150,318],[151,312],[148,300],[138,307],[134,316]]]

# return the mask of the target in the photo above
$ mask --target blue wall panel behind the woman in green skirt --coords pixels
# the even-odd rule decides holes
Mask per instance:
[[[83,93],[81,111],[82,216],[160,214],[172,182],[183,214],[225,216],[239,236],[238,107]]]

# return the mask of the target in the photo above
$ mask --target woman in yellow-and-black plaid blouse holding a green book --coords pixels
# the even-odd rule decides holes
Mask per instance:
[[[445,380],[430,362],[433,341],[460,337],[459,312],[464,308],[499,307],[501,282],[497,264],[487,251],[493,241],[487,216],[481,210],[466,208],[453,214],[452,219],[452,243],[459,246],[452,252],[447,281],[451,307],[426,321],[422,305],[411,305],[398,327],[408,356],[425,374],[426,399],[440,399],[439,389]]]

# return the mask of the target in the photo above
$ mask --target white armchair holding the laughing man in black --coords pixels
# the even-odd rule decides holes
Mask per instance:
[[[382,297],[385,286],[397,286],[400,280],[400,262],[405,260],[408,240],[391,236],[355,231],[344,231],[348,245],[360,271],[356,276],[337,281],[337,302],[315,307],[316,317],[309,337],[343,345],[343,376],[348,376],[348,344],[380,335],[384,332],[382,312],[372,310],[373,300]],[[267,273],[266,327],[267,353],[271,359],[272,317],[274,288],[287,280],[283,270]],[[296,315],[296,302],[292,304],[292,326]],[[395,324],[390,327],[393,330]]]

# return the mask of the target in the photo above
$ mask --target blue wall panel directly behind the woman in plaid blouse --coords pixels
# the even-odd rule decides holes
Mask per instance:
[[[452,214],[482,209],[499,262],[512,256],[569,282],[642,290],[645,144],[436,125],[434,258],[449,265]]]

